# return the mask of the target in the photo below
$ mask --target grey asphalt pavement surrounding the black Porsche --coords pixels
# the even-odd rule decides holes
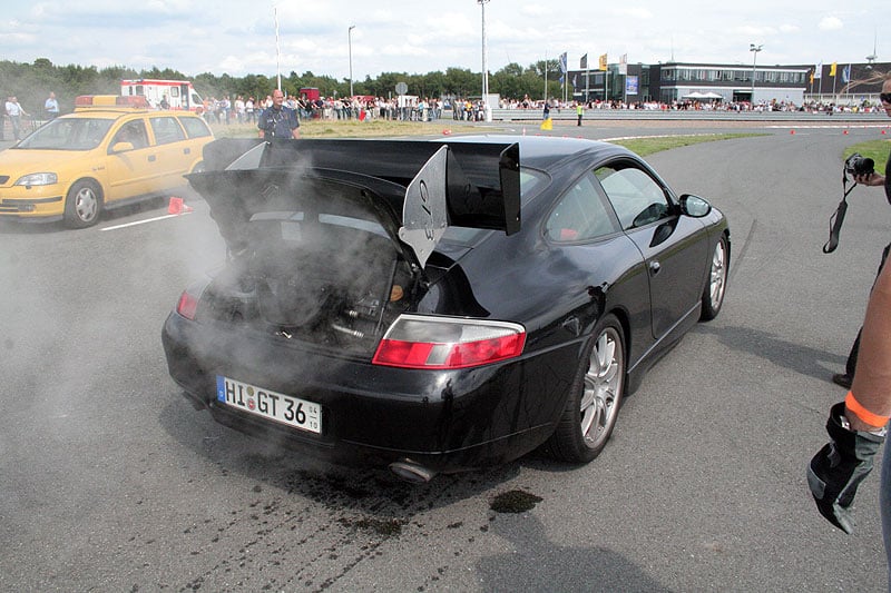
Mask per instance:
[[[887,122],[758,122],[648,157],[730,218],[718,318],[649,372],[591,464],[530,455],[421,486],[301,458],[182,397],[159,334],[224,256],[203,201],[78,231],[0,225],[0,590],[885,591],[878,473],[848,536],[804,468],[891,223],[881,189],[856,188],[839,249],[821,251],[841,155]],[[678,129],[724,128],[548,134]],[[507,494],[518,512],[492,508]]]

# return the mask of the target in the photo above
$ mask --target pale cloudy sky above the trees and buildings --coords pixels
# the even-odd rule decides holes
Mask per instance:
[[[194,77],[311,71],[337,80],[381,72],[463,68],[490,72],[566,52],[596,67],[616,63],[718,62],[829,65],[891,61],[891,33],[879,30],[882,2],[804,4],[764,0],[703,4],[477,0],[77,0],[3,2],[0,59],[53,65],[170,68]],[[787,7],[787,8],[784,8]],[[484,11],[484,12],[483,12]],[[277,43],[276,43],[277,20]],[[354,29],[350,31],[350,27]],[[757,53],[750,51],[762,46]]]

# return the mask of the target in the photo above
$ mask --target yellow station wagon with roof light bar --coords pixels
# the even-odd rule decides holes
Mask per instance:
[[[202,170],[210,128],[143,97],[81,96],[75,112],[0,152],[0,220],[95,225],[104,209],[169,195]]]

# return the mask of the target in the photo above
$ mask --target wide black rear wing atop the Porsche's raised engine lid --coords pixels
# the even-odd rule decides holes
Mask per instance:
[[[441,151],[443,147],[446,150]],[[520,229],[520,150],[513,142],[337,139],[271,144],[222,138],[204,147],[204,162],[208,172],[330,170],[398,184],[407,188],[407,197],[403,204],[391,206],[403,211],[405,228],[423,230],[427,236],[432,234],[431,224],[439,226],[443,221],[432,215],[425,223],[412,221],[405,214],[430,211],[431,197],[443,200],[446,224],[450,226],[501,230],[507,235]],[[412,247],[417,250],[417,246]]]

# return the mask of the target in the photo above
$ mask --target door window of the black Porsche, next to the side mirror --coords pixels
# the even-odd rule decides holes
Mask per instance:
[[[634,166],[600,167],[595,171],[621,228],[643,227],[669,216],[668,198],[649,175]]]

